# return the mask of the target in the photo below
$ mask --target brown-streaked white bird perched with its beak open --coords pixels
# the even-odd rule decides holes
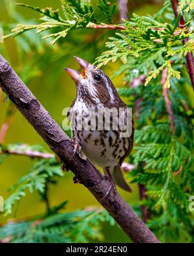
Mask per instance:
[[[74,57],[81,67],[81,73],[73,69],[65,68],[67,73],[76,83],[76,99],[72,102],[70,111],[72,113],[81,113],[83,119],[87,119],[87,112],[92,109],[97,111],[102,108],[124,108],[127,106],[120,99],[116,88],[107,75],[96,66],[89,64],[81,58]],[[106,119],[106,115],[104,117]],[[104,120],[103,119],[103,120]],[[70,119],[70,121],[72,121]],[[113,120],[112,120],[113,121]],[[118,187],[131,192],[132,189],[125,181],[121,169],[125,157],[129,156],[133,148],[134,123],[131,117],[131,134],[128,137],[120,136],[121,130],[76,130],[72,129],[72,137],[76,145],[81,145],[85,156],[98,167],[103,168],[105,175],[113,179]]]

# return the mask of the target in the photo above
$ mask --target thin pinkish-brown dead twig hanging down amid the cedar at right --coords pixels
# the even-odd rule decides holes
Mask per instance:
[[[168,119],[169,119],[170,126],[171,126],[171,133],[175,134],[173,110],[171,108],[171,101],[169,100],[169,97],[167,95],[168,88],[164,87],[164,84],[166,83],[166,79],[167,79],[167,67],[165,69],[163,69],[163,71],[162,71],[162,78],[161,78],[160,83],[162,85],[162,94],[163,94],[164,100],[166,102],[166,111],[167,111]]]

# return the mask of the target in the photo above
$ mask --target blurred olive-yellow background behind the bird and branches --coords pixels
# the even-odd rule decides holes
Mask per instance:
[[[27,0],[21,2],[33,6],[59,8],[59,2],[54,0]],[[95,3],[95,1],[93,2]],[[160,9],[161,5],[162,1],[129,1],[129,16],[133,12],[141,15],[153,14]],[[33,10],[21,6],[15,7],[14,0],[0,0],[0,23],[5,29],[5,34],[8,34],[17,23],[22,23],[22,21],[23,23],[32,23],[30,21],[34,21],[38,17],[39,15]],[[115,21],[118,23],[118,10]],[[32,31],[16,39],[8,39],[4,43],[0,43],[0,52],[8,59],[32,93],[50,112],[50,115],[61,125],[63,121],[62,110],[70,106],[76,94],[74,82],[70,80],[63,68],[79,68],[74,58],[72,58],[74,55],[80,56],[88,62],[94,62],[95,58],[103,52],[107,38],[113,34],[114,31],[76,30],[70,32],[67,38],[60,40],[58,44],[50,46],[49,40],[41,40],[42,34],[37,35],[36,32]],[[118,65],[120,65],[118,62],[109,64],[103,67],[103,70],[108,76],[111,76]],[[123,86],[122,76],[114,78],[113,83],[116,87]],[[5,98],[4,94],[0,101],[0,127],[5,119],[9,104],[8,100],[3,103],[3,98]],[[12,123],[4,143],[17,142],[30,145],[41,144],[49,150],[41,137],[36,134],[32,126],[18,111],[12,117]],[[7,157],[3,161],[3,164],[0,165],[1,196],[8,197],[10,194],[8,188],[30,169],[34,161],[21,156]],[[49,199],[51,206],[59,204],[63,200],[69,200],[65,211],[99,205],[89,191],[83,185],[74,184],[72,178],[72,172],[65,172],[63,178],[58,179],[57,185],[50,187]],[[136,186],[132,185],[132,187],[134,189],[133,194],[118,189],[130,204],[135,203],[139,198]],[[0,224],[13,218],[22,219],[42,213],[44,208],[45,205],[41,202],[38,194],[28,192],[27,196],[21,200],[17,214],[1,216]],[[129,242],[127,236],[117,226],[111,227],[108,224],[103,224],[103,234],[104,242]]]

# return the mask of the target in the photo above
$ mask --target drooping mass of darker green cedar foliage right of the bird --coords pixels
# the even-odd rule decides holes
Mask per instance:
[[[148,199],[142,204],[151,213],[148,225],[164,242],[193,241],[192,213],[188,205],[189,196],[194,192],[194,108],[186,97],[186,89],[184,76],[179,81],[176,78],[171,80],[168,97],[175,134],[169,126],[160,76],[148,87],[140,84],[118,90],[129,100],[129,106],[141,99],[136,106],[139,118],[135,131],[136,146],[131,156],[136,169],[129,177],[133,183],[146,185]]]

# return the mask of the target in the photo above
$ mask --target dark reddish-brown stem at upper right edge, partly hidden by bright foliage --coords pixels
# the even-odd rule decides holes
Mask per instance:
[[[175,14],[175,17],[177,18],[177,16],[178,16],[178,12],[177,12],[178,0],[171,0],[171,5],[173,7],[173,12]],[[179,27],[181,29],[185,27],[185,21],[184,21],[183,15],[180,16]],[[188,42],[188,40],[189,40],[189,38],[185,38],[182,41],[182,43],[185,44],[186,42]],[[186,61],[187,61],[186,68],[187,68],[189,76],[191,78],[191,84],[192,84],[193,90],[194,90],[194,58],[193,58],[192,52],[188,52],[188,54],[186,54]]]

